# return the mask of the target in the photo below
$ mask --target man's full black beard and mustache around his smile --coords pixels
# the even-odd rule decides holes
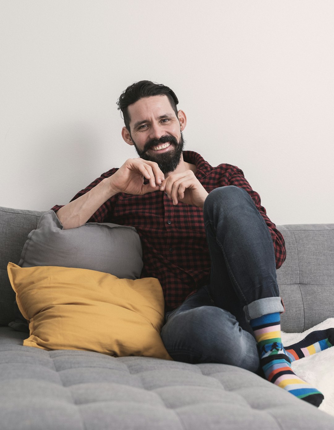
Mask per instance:
[[[164,154],[155,155],[155,154],[148,153],[148,150],[151,149],[152,147],[158,146],[159,144],[164,144],[167,142],[170,142],[171,144],[173,144],[174,148],[170,149]],[[166,173],[173,172],[176,169],[176,167],[179,165],[183,147],[184,147],[184,139],[181,132],[181,137],[179,142],[176,140],[175,137],[171,135],[164,135],[164,136],[161,136],[160,139],[151,139],[147,141],[142,150],[140,150],[139,147],[137,147],[134,141],[133,141],[133,144],[140,158],[142,158],[143,160],[154,161],[155,163],[158,163],[159,169],[165,175]]]

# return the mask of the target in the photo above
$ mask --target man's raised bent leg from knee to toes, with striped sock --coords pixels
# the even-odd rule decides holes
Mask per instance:
[[[204,224],[215,301],[223,306],[226,289],[234,289],[236,306],[239,311],[243,307],[253,329],[266,379],[319,406],[324,396],[294,374],[281,343],[280,313],[284,308],[278,296],[274,247],[253,200],[241,188],[217,188],[205,200]],[[224,279],[224,267],[230,283]]]

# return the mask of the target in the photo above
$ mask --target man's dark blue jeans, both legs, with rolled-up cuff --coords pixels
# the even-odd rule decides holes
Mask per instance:
[[[204,202],[210,285],[165,315],[161,338],[170,356],[225,363],[258,372],[250,320],[283,312],[269,229],[242,188],[211,191]]]

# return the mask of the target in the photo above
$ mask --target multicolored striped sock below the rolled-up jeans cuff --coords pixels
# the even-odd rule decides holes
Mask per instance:
[[[298,378],[291,370],[291,361],[281,341],[281,317],[279,312],[251,320],[260,365],[266,379],[289,393],[318,407],[324,396],[316,388]]]

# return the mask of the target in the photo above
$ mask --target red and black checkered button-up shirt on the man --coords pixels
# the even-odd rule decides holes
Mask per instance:
[[[254,200],[269,228],[274,243],[276,268],[285,260],[285,242],[275,224],[261,206],[259,194],[251,189],[243,172],[236,166],[210,166],[199,154],[183,152],[184,161],[195,164],[196,178],[208,193],[217,187],[235,185],[244,188]],[[87,193],[102,179],[118,169],[103,173],[72,200]],[[62,206],[54,206],[57,211]],[[197,206],[178,203],[161,191],[143,196],[118,193],[107,200],[87,222],[113,222],[136,227],[143,253],[142,277],[158,278],[164,290],[166,310],[179,306],[194,290],[210,279],[210,256],[205,236],[203,210]]]

